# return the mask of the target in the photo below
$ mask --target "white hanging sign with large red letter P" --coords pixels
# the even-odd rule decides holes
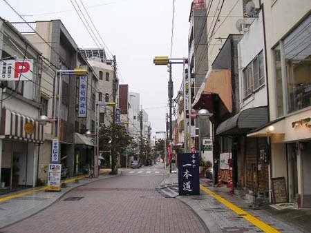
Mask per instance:
[[[0,81],[32,81],[33,60],[0,61]]]

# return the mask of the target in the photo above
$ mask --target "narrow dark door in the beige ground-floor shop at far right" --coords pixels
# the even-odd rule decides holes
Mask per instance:
[[[298,172],[296,143],[287,145],[288,149],[288,198],[290,202],[297,202],[298,199]]]

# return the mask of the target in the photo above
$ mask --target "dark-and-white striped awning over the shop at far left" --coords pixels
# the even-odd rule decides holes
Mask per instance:
[[[28,123],[31,123],[35,128],[32,134],[27,133],[25,130],[25,126]],[[1,135],[8,139],[44,143],[44,126],[39,125],[38,121],[31,117],[3,108]]]

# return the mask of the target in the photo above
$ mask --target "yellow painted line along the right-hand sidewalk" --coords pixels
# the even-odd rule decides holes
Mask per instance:
[[[200,185],[200,189],[203,190],[204,192],[206,192],[207,194],[213,196],[214,199],[216,199],[220,203],[223,203],[229,209],[231,209],[232,211],[236,212],[236,214],[238,214],[239,216],[242,216],[244,219],[249,221],[249,223],[252,223],[252,224],[256,225],[256,227],[258,227],[259,229],[263,230],[263,232],[269,232],[269,233],[270,232],[271,233],[279,232],[274,227],[272,227],[270,225],[267,225],[267,223],[264,223],[263,221],[261,221],[261,220],[257,219],[256,217],[252,216],[252,214],[249,214],[245,210],[242,210],[241,208],[237,207],[236,205],[232,204],[231,202],[227,201],[226,199],[223,199],[221,196],[217,195],[216,193],[211,192],[211,190],[209,190],[208,188],[204,187],[203,185]]]

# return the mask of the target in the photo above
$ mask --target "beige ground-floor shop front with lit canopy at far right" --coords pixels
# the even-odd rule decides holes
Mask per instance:
[[[311,110],[271,122],[247,136],[270,137],[271,182],[284,179],[285,199],[299,207],[311,207]],[[273,182],[270,184],[273,186]],[[272,202],[277,203],[273,190]]]

